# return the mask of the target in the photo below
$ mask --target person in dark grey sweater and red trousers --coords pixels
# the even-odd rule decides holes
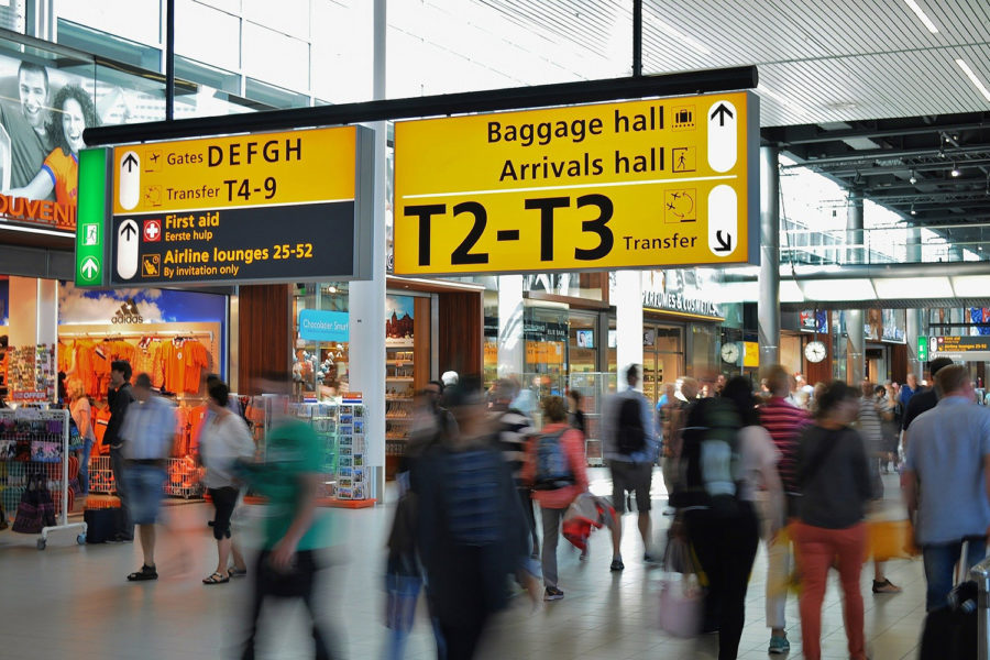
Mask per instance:
[[[859,414],[859,393],[835,381],[818,398],[812,426],[798,446],[801,515],[793,525],[801,570],[801,642],[807,660],[822,657],[822,602],[828,569],[836,564],[849,657],[865,660],[859,575],[866,553],[864,514],[873,496],[862,437],[850,427]]]

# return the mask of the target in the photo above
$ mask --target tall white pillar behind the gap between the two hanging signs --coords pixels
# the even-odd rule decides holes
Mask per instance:
[[[385,0],[374,8],[374,98],[385,98]],[[350,386],[364,396],[365,442],[372,492],[385,502],[385,177],[387,130],[375,131],[375,199],[372,233],[373,277],[350,286]]]

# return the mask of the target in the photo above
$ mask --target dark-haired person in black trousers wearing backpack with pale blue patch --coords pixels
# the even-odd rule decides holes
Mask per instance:
[[[708,579],[707,626],[718,630],[718,660],[733,660],[746,622],[746,590],[760,540],[757,490],[767,490],[768,512],[779,529],[783,488],[780,451],[760,426],[752,384],[735,376],[717,398],[698,402],[683,433],[684,480],[672,504]],[[777,529],[772,531],[776,534]]]

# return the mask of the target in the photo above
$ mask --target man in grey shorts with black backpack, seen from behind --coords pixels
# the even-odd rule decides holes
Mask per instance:
[[[605,460],[612,472],[612,505],[616,524],[612,528],[610,571],[625,569],[622,554],[623,522],[626,513],[626,492],[636,495],[639,512],[639,534],[642,537],[644,561],[656,561],[650,554],[650,485],[653,463],[657,460],[657,436],[653,432],[652,406],[636,389],[639,385],[639,366],[626,370],[627,389],[613,395],[602,415],[602,439]]]

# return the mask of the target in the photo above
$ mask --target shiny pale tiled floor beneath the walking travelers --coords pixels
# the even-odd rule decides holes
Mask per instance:
[[[607,492],[607,474],[593,471],[593,490]],[[888,477],[890,506],[895,507],[897,485]],[[658,526],[662,486],[659,474],[654,507]],[[37,551],[34,537],[0,532],[0,658],[233,658],[241,637],[249,584],[234,581],[204,586],[200,579],[216,564],[212,537],[205,521],[206,505],[170,507],[174,532],[162,535],[158,556],[162,579],[157,583],[129,584],[124,575],[140,565],[135,546],[78,547],[74,535],[57,532],[47,550]],[[263,509],[253,508],[248,526]],[[321,586],[322,613],[334,630],[340,657],[383,657],[388,630],[382,625],[383,546],[391,508],[358,512],[332,510],[340,544],[333,568]],[[647,570],[634,558],[641,556],[638,534],[629,518],[624,540],[626,570],[609,573],[609,539],[596,532],[592,557],[561,543],[563,601],[532,610],[522,596],[492,627],[483,657],[504,659],[609,659],[658,660],[715,658],[712,636],[679,640],[656,626],[660,572]],[[70,538],[70,536],[73,538]],[[249,535],[250,536],[250,535]],[[188,550],[183,561],[182,548]],[[913,658],[924,618],[924,576],[920,561],[888,564],[890,579],[904,587],[899,595],[873,596],[869,592],[872,566],[864,570],[868,648],[875,660]],[[757,558],[747,602],[747,626],[739,657],[767,658],[769,631],[763,618],[766,564]],[[470,588],[471,585],[465,585]],[[421,615],[420,608],[420,615]],[[266,642],[261,658],[307,658],[308,632],[301,607],[274,603],[267,608]],[[788,603],[790,658],[801,657],[796,601]],[[823,650],[826,658],[846,658],[842,605],[835,580],[823,612]],[[407,658],[433,656],[431,636],[420,616]]]

